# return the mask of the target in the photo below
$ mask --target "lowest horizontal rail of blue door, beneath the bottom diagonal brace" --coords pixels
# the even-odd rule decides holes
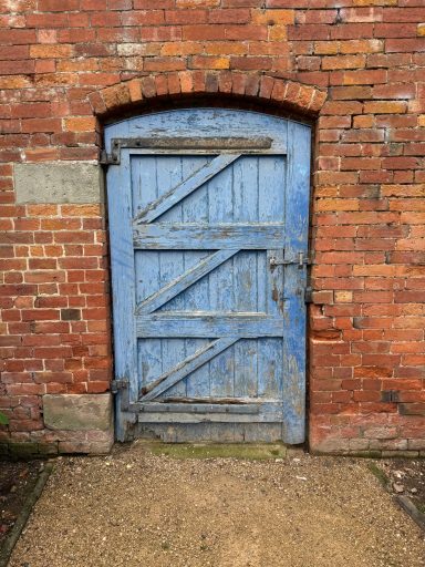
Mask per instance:
[[[257,402],[243,405],[245,410],[249,409],[249,412],[236,412],[230,408],[242,408],[237,405],[229,405],[228,412],[214,411],[204,412],[199,406],[186,408],[186,412],[173,411],[155,411],[155,406],[162,405],[157,402],[151,402],[153,405],[151,411],[138,411],[139,423],[281,423],[283,421],[283,405],[281,402]],[[146,406],[148,404],[145,404]],[[173,404],[169,404],[173,405]],[[187,404],[183,404],[186,405]],[[132,405],[133,408],[133,405]],[[134,409],[137,411],[138,405],[135,404]],[[222,406],[221,406],[222,408]],[[139,409],[139,408],[138,408]],[[139,409],[141,410],[141,409]]]

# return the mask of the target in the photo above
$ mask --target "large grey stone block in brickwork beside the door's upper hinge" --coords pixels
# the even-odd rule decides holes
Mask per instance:
[[[92,162],[15,164],[17,203],[103,203],[103,173]]]

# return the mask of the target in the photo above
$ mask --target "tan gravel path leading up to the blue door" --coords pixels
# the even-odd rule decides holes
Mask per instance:
[[[176,460],[142,442],[56,462],[9,567],[423,567],[367,462]]]

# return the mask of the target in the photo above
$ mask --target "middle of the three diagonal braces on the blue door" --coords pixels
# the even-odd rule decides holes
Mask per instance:
[[[220,264],[224,261],[231,258],[239,250],[229,249],[219,250],[215,254],[211,254],[182,274],[182,276],[176,278],[174,281],[160,288],[156,293],[145,299],[137,306],[136,312],[142,315],[156,311],[156,309],[159,309],[159,307],[162,307],[164,303],[176,297],[178,293],[182,293],[182,291],[194,285],[196,281],[217,268],[217,266],[220,266]]]

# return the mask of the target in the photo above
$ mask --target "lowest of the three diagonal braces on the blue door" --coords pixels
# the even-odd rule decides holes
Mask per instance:
[[[183,333],[183,336],[185,336]],[[229,337],[226,339],[219,339],[214,341],[206,347],[203,347],[195,354],[187,357],[180,363],[172,368],[168,372],[160,375],[155,382],[146,386],[143,391],[141,400],[147,402],[154,400],[163,392],[169,390],[173,385],[177,384],[180,380],[186,378],[190,372],[194,372],[198,368],[209,362],[214,357],[228,349],[238,340],[237,337]]]

